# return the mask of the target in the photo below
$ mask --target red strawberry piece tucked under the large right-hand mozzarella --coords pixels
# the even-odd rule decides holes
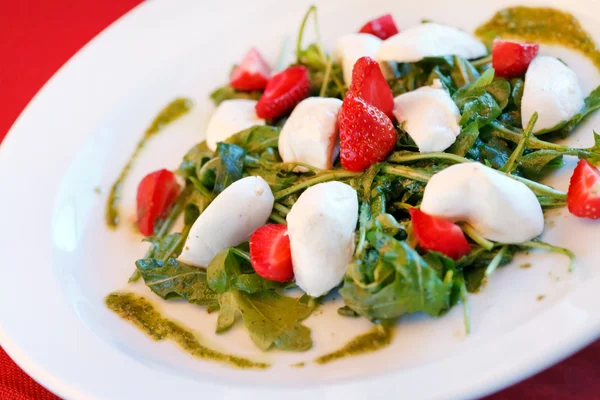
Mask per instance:
[[[408,210],[413,232],[423,250],[437,251],[458,260],[471,251],[465,234],[458,225],[432,217],[417,208]]]

